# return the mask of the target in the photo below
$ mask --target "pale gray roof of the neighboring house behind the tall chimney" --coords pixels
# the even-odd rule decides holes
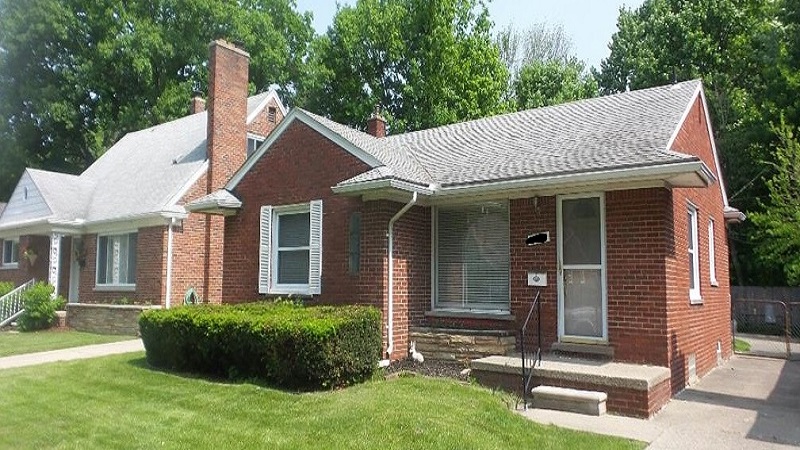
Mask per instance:
[[[274,91],[248,98],[248,121],[270,98],[277,100]],[[48,208],[24,221],[9,208],[0,214],[0,230],[36,221],[80,226],[185,215],[177,203],[208,168],[207,124],[203,111],[128,133],[80,176],[27,169]]]

